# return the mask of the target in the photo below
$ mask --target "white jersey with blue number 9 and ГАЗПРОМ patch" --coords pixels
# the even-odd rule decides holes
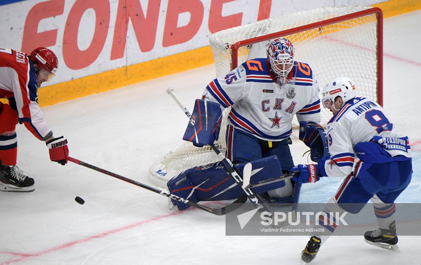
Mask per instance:
[[[344,103],[328,122],[326,133],[330,159],[326,160],[324,170],[330,177],[349,175],[357,158],[354,146],[373,137],[378,137],[378,143],[391,156],[412,157],[408,138],[399,135],[383,108],[367,98],[353,98]]]

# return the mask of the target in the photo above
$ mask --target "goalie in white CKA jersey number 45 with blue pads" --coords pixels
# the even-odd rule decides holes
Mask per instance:
[[[294,60],[293,44],[285,38],[274,40],[266,55],[212,80],[202,100],[196,101],[183,138],[195,146],[213,143],[218,138],[221,109],[232,106],[226,158],[238,172],[245,163],[252,163],[250,184],[280,177],[282,170],[294,167],[289,148],[294,116],[300,122],[300,140],[312,148],[312,160],[320,159],[327,149],[317,133],[321,129],[319,86],[311,67]],[[236,199],[243,193],[220,163],[181,172],[167,186],[171,193],[196,201]],[[298,202],[300,187],[282,180],[253,191],[262,201]],[[187,207],[174,203],[179,209]]]

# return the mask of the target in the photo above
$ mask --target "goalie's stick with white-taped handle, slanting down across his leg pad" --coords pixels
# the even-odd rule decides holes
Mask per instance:
[[[187,117],[191,118],[190,112],[187,110],[187,108],[179,101],[177,96],[173,93],[173,89],[169,87],[167,89],[167,94],[171,95],[171,97],[176,101],[176,103],[179,105],[179,107],[184,111],[184,114],[186,114]],[[238,186],[240,186],[241,190],[244,192],[244,194],[247,196],[247,198],[254,204],[254,206],[259,210],[259,212],[269,212],[269,210],[266,208],[266,206],[261,202],[261,200],[256,196],[256,194],[250,189],[243,186],[243,179],[240,175],[240,173],[237,171],[237,169],[234,167],[231,161],[227,159],[221,151],[215,146],[214,143],[210,144],[210,147],[212,147],[213,151],[218,155],[219,159],[221,159],[222,165],[225,167],[225,170],[228,171],[229,175],[234,179],[234,181],[237,183]],[[251,174],[251,167],[250,167],[250,174]]]

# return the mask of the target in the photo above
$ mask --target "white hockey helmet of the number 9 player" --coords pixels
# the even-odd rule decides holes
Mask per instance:
[[[337,77],[329,80],[323,87],[323,106],[327,108],[329,106],[328,103],[333,106],[337,96],[340,96],[344,102],[355,98],[354,90],[354,83],[348,77]]]

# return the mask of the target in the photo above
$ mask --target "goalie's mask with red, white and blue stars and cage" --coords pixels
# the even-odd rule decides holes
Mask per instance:
[[[267,58],[278,85],[285,84],[287,82],[286,78],[294,65],[294,47],[292,43],[285,38],[274,40],[267,48]]]

